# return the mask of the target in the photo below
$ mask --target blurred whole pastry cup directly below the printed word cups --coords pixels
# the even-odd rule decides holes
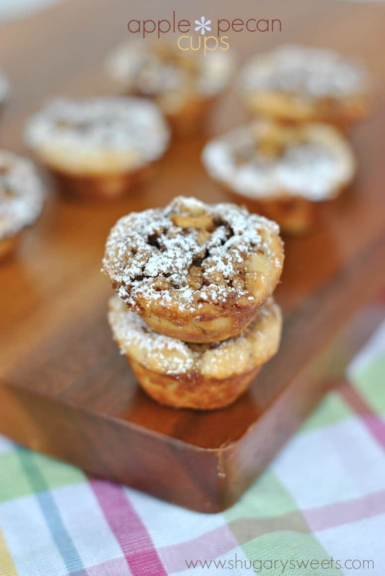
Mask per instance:
[[[107,62],[111,78],[128,94],[155,100],[182,135],[202,127],[206,112],[228,85],[233,59],[228,52],[180,50],[164,41],[125,44]]]

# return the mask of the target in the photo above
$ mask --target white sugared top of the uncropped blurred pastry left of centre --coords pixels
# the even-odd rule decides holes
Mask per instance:
[[[53,149],[91,158],[129,152],[136,165],[159,158],[169,140],[156,105],[141,98],[57,98],[33,116],[25,131],[27,145],[38,152]]]

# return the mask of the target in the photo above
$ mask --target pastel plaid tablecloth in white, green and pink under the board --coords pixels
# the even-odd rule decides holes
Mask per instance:
[[[385,324],[241,500],[205,515],[0,437],[0,576],[385,575]]]

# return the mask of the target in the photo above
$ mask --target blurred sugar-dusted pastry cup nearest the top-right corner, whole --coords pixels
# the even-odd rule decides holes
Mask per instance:
[[[282,122],[327,122],[345,128],[368,110],[364,67],[322,48],[283,45],[252,58],[241,71],[248,111]]]

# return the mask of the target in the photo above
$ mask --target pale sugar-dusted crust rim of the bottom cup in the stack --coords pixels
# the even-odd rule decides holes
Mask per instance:
[[[121,354],[163,374],[201,372],[226,377],[266,362],[279,344],[281,314],[273,298],[240,335],[223,342],[191,344],[154,332],[117,296],[109,303],[109,323]]]

